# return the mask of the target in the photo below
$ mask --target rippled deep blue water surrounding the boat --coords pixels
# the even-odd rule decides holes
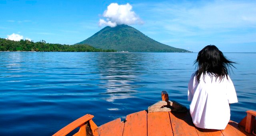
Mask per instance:
[[[231,119],[256,110],[256,53],[225,53],[239,103]],[[187,107],[197,53],[0,52],[0,135],[50,136],[89,113],[98,126],[161,100]],[[216,101],[218,101],[216,99]],[[218,110],[218,105],[212,107]]]

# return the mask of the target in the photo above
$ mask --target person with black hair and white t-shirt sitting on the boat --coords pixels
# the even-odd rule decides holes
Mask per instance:
[[[236,91],[228,76],[232,61],[214,45],[198,52],[197,70],[188,84],[190,114],[195,126],[224,129],[230,120],[230,103],[236,103]]]

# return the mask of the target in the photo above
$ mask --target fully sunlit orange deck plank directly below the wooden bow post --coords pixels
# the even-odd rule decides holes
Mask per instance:
[[[168,112],[148,113],[148,136],[173,136]]]

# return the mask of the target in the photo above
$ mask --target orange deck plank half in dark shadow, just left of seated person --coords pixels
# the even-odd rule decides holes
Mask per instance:
[[[189,111],[185,113],[169,112],[174,136],[198,136]]]

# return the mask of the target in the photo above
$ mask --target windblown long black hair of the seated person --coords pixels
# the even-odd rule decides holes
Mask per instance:
[[[228,79],[228,71],[230,71],[230,66],[233,66],[233,63],[236,64],[236,62],[228,60],[215,45],[207,45],[198,52],[194,63],[197,66],[196,80],[199,83],[200,76],[202,75],[204,79],[206,74],[212,74],[216,77],[216,80],[219,78],[220,81],[225,76]]]

